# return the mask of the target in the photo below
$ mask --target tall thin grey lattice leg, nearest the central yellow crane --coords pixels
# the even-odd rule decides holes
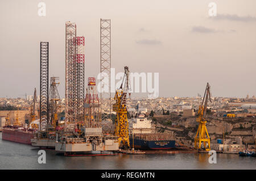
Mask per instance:
[[[110,68],[111,68],[111,31],[110,31],[110,19],[101,19],[101,114],[102,120],[107,119],[107,113],[103,112],[102,106],[103,99],[106,99],[106,110],[109,110],[110,119],[112,112],[111,102],[111,83],[110,83]],[[105,90],[106,89],[106,90]],[[109,108],[108,108],[109,107]],[[102,125],[103,127],[106,125]]]

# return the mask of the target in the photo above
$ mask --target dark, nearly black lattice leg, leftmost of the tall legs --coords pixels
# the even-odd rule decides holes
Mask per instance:
[[[48,125],[49,121],[49,43],[40,42],[40,125],[41,131],[43,119]],[[44,126],[46,126],[44,125]]]

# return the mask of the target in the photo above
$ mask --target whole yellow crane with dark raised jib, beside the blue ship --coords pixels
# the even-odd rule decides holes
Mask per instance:
[[[130,147],[129,125],[127,120],[126,95],[130,90],[129,68],[125,66],[125,75],[119,89],[115,91],[113,111],[117,113],[115,117],[115,136],[118,136],[119,147]],[[129,93],[130,96],[130,93]]]

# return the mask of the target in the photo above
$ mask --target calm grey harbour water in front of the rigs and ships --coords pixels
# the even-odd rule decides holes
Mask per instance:
[[[256,169],[255,157],[217,154],[217,163],[208,154],[149,154],[64,157],[46,150],[46,164],[38,163],[38,149],[2,140],[0,169]]]

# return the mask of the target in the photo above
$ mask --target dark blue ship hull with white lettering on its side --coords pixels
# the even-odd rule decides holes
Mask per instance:
[[[175,140],[146,141],[130,138],[130,146],[140,150],[164,150],[175,148]]]

